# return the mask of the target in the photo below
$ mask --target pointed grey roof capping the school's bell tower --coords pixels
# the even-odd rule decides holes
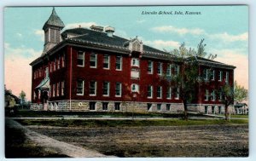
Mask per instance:
[[[61,18],[56,14],[55,8],[52,9],[52,13],[49,16],[49,19],[45,22],[43,30],[47,26],[58,26],[61,28],[63,28],[65,26],[64,23],[62,22]]]

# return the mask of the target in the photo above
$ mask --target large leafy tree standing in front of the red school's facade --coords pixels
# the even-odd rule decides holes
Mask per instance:
[[[170,87],[178,88],[177,92],[179,99],[183,102],[184,109],[184,119],[188,120],[188,104],[195,99],[195,94],[199,83],[202,83],[203,79],[199,76],[199,64],[198,57],[205,57],[207,53],[205,52],[206,44],[203,43],[204,39],[201,40],[201,43],[198,44],[197,50],[187,49],[185,43],[182,43],[179,49],[173,49],[171,54],[171,59],[177,60],[177,63],[180,63],[181,70],[178,75],[175,75],[172,78],[168,78],[166,75],[164,79],[168,80],[168,85]]]

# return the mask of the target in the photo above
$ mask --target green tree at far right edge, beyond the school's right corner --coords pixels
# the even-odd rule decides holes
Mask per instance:
[[[236,103],[247,100],[248,90],[238,85],[236,81],[234,83],[234,90],[234,101]]]

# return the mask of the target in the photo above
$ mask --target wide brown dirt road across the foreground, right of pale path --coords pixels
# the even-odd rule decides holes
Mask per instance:
[[[28,126],[58,141],[118,157],[245,157],[247,125],[123,128]]]

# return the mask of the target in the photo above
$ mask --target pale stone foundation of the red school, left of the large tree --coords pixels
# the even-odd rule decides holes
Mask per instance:
[[[90,102],[95,102],[94,109],[90,109]],[[103,103],[108,103],[105,109],[103,109]],[[115,106],[115,103],[119,103],[119,108]],[[166,102],[49,101],[44,105],[31,104],[31,110],[57,112],[183,112],[183,104]]]

